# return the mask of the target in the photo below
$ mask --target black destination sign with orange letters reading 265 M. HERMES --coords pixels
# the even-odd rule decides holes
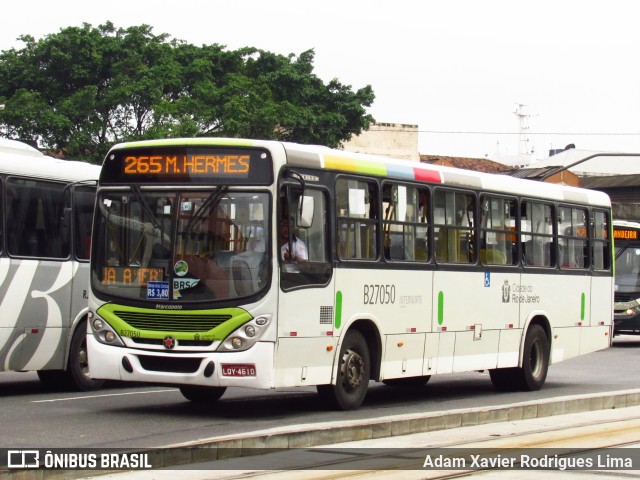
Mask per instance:
[[[271,157],[266,150],[248,148],[126,148],[109,153],[100,181],[107,185],[268,185]]]

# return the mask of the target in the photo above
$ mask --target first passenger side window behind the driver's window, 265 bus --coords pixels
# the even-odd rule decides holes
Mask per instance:
[[[345,178],[337,181],[338,255],[341,259],[378,258],[376,205],[375,183]]]

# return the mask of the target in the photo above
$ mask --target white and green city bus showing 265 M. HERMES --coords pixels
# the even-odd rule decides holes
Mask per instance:
[[[192,401],[317,386],[355,409],[370,381],[476,370],[537,390],[611,341],[601,192],[275,141],[142,141],[108,153],[93,229],[91,376]]]

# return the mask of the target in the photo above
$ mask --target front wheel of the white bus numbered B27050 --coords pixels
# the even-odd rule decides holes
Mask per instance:
[[[318,385],[323,401],[341,410],[355,410],[362,405],[369,388],[371,359],[369,347],[362,334],[351,330],[345,335],[335,385]]]

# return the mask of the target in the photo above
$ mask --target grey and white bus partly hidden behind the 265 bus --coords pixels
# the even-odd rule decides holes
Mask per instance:
[[[89,248],[100,167],[0,139],[0,371],[92,390]]]

